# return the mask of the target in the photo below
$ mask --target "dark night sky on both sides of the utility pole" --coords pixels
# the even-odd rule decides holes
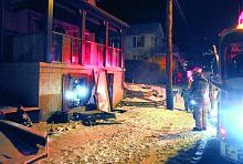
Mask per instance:
[[[201,55],[212,44],[218,45],[219,32],[237,23],[240,1],[177,0],[177,6],[175,0],[173,43],[187,57]],[[128,24],[162,22],[165,31],[166,0],[99,0],[97,4]]]

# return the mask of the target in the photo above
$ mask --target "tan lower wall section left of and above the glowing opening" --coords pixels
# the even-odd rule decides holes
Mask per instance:
[[[42,117],[45,120],[53,112],[62,110],[63,74],[81,73],[92,75],[92,69],[64,63],[40,64],[39,106],[42,109]]]

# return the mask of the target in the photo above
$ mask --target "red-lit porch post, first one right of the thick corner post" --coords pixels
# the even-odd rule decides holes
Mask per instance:
[[[86,11],[80,10],[81,14],[81,27],[80,27],[80,38],[81,38],[81,51],[78,63],[84,65],[84,58],[85,58],[85,29],[86,29]]]

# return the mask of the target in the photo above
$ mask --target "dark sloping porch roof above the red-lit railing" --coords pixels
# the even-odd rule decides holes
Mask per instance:
[[[99,18],[103,18],[106,21],[109,21],[113,24],[118,25],[119,28],[129,28],[129,25],[127,23],[125,23],[124,21],[119,20],[118,18],[107,13],[106,11],[99,9],[96,6],[92,6],[89,4],[87,1],[85,0],[54,0],[54,3],[61,3],[64,7],[71,7],[72,9],[76,9],[76,10],[86,10],[87,12],[91,12],[93,14],[96,14]],[[29,3],[29,4],[33,4],[34,0],[12,0],[12,6],[21,6],[22,8],[27,8],[27,6],[24,6],[24,3]],[[36,3],[35,3],[36,4]],[[29,6],[30,7],[30,6]]]

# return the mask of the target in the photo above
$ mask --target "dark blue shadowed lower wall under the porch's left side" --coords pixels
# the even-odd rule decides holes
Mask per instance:
[[[0,105],[39,105],[39,63],[1,63],[0,76]]]

